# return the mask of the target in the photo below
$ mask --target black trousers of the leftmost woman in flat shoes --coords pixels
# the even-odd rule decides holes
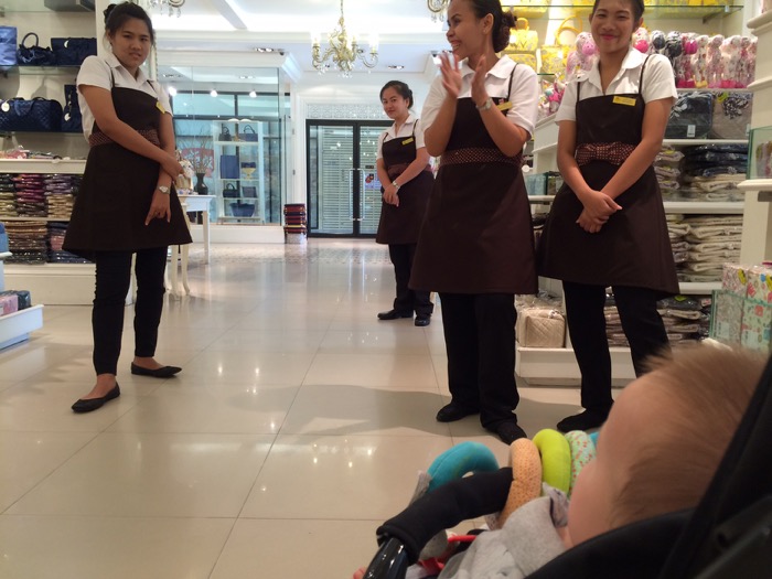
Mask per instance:
[[[117,374],[124,333],[126,294],[131,283],[131,251],[96,253],[96,290],[92,329],[94,369]],[[163,272],[167,247],[137,251],[137,302],[135,303],[135,356],[152,357],[158,343],[158,325],[163,310]]]

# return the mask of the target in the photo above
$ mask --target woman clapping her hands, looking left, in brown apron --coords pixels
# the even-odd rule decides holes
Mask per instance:
[[[437,420],[480,412],[507,444],[526,436],[514,412],[514,294],[536,291],[521,154],[538,85],[533,69],[496,55],[513,25],[498,0],[450,2],[453,54],[441,56],[421,115],[440,169],[410,278],[410,287],[440,294],[451,401]]]

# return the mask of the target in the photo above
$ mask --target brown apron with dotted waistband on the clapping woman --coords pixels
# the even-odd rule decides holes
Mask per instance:
[[[508,101],[510,95],[493,100]],[[505,157],[498,150],[472,99],[460,98],[418,240],[411,288],[536,292],[530,206],[521,165],[521,154]]]

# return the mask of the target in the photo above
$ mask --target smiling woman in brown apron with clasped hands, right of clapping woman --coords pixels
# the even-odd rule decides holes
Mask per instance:
[[[565,185],[553,203],[537,250],[540,276],[562,280],[568,331],[581,371],[585,411],[561,431],[600,426],[613,403],[605,334],[611,286],[635,374],[667,351],[657,299],[678,292],[660,186],[652,168],[676,96],[673,68],[644,56],[631,37],[641,0],[596,0],[590,14],[599,60],[564,95],[556,121]]]

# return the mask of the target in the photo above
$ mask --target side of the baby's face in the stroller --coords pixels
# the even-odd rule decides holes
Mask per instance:
[[[611,529],[613,501],[640,455],[646,431],[656,423],[656,405],[646,392],[651,379],[651,374],[642,376],[620,394],[598,436],[596,458],[577,478],[568,507],[568,547]]]

